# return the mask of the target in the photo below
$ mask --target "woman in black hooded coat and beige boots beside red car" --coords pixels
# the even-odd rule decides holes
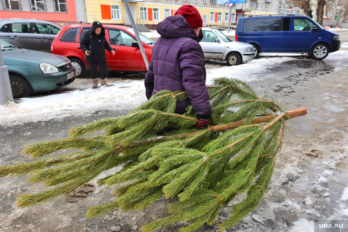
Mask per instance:
[[[105,29],[100,22],[93,22],[92,28],[87,31],[81,39],[80,47],[85,54],[85,61],[88,62],[90,67],[90,74],[93,79],[93,88],[98,85],[97,77],[97,65],[99,66],[102,86],[112,86],[106,83],[106,56],[105,49],[115,55],[115,51],[112,50],[108,41],[105,39]]]

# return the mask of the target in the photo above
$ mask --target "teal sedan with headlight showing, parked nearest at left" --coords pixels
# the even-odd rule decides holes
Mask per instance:
[[[55,90],[75,80],[75,69],[66,57],[19,48],[2,39],[0,43],[13,98]]]

